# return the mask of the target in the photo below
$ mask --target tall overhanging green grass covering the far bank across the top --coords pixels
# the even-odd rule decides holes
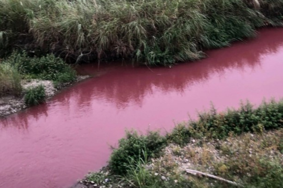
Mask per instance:
[[[282,25],[282,0],[0,0],[0,52],[147,65],[196,60],[204,49]]]

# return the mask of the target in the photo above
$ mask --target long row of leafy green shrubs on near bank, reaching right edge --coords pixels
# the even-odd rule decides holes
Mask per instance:
[[[217,113],[212,107],[198,115],[197,121],[189,126],[194,137],[226,138],[229,133],[262,132],[263,129],[283,127],[283,100],[263,102],[258,108],[249,103],[241,103],[239,109],[228,109]]]

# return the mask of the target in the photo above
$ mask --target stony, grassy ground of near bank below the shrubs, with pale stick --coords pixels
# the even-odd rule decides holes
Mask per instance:
[[[183,147],[170,144],[162,150],[161,157],[133,166],[126,177],[104,169],[87,175],[72,188],[280,188],[283,184],[282,137],[283,129],[280,129],[209,142],[191,139]]]

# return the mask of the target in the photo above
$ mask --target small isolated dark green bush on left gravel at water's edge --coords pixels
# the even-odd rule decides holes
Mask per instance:
[[[29,88],[25,94],[25,104],[28,106],[34,106],[45,102],[45,90],[43,85],[39,85],[33,88]]]

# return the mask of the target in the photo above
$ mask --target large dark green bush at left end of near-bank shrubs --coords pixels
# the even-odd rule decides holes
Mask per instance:
[[[138,135],[136,132],[126,132],[126,137],[119,140],[119,147],[113,149],[109,167],[115,174],[125,174],[127,166],[139,158],[155,157],[166,144],[166,139],[158,132],[148,132],[147,135]]]

